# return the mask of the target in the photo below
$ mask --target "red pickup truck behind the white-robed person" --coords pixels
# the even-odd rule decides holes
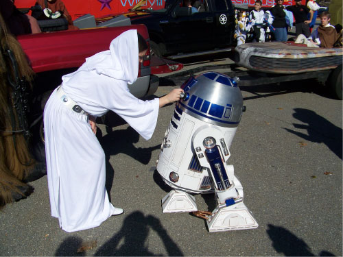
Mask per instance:
[[[108,50],[113,38],[128,29],[137,29],[149,42],[149,34],[144,25],[66,30],[23,35],[18,36],[17,39],[21,43],[32,69],[41,77],[43,74],[40,73],[49,71],[56,73],[60,70],[59,75],[63,75],[63,71],[64,73],[70,71],[67,69],[78,68],[87,57],[93,56],[99,51]],[[44,85],[47,90],[58,86],[60,81],[57,82],[58,84],[51,85],[52,82],[49,79],[49,83],[45,82]],[[150,51],[147,51],[144,62],[139,67],[137,82],[129,85],[130,92],[136,97],[145,97],[154,94],[157,87],[158,77],[151,75]]]

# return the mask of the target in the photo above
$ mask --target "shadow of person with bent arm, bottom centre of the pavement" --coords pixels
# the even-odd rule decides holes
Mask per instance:
[[[97,249],[95,256],[161,256],[147,249],[147,236],[150,228],[163,241],[168,256],[183,256],[178,245],[167,234],[163,225],[156,217],[142,212],[132,212],[123,222],[121,230],[114,234],[109,241]]]

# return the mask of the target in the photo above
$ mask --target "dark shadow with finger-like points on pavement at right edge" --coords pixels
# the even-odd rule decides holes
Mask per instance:
[[[303,108],[295,108],[293,117],[305,124],[293,124],[297,129],[307,130],[307,134],[285,128],[288,132],[300,136],[307,141],[324,143],[342,160],[342,129],[333,125],[316,112]]]

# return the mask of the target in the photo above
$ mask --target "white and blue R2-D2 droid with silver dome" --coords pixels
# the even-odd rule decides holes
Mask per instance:
[[[244,110],[238,78],[207,72],[190,77],[165,132],[156,169],[173,188],[163,212],[194,212],[189,193],[215,192],[217,207],[202,212],[209,232],[257,228],[243,202],[243,187],[229,165],[230,145]]]

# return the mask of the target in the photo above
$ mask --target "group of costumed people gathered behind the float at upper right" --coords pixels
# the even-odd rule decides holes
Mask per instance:
[[[295,0],[294,5],[284,5],[284,0],[275,0],[270,10],[263,10],[261,0],[255,1],[255,9],[249,15],[237,12],[237,45],[245,42],[293,40],[308,47],[331,48],[340,44],[341,32],[329,23],[329,12],[320,14],[320,25],[314,29],[320,6],[316,0],[308,0],[306,5]],[[288,32],[295,26],[295,37],[289,38]]]

